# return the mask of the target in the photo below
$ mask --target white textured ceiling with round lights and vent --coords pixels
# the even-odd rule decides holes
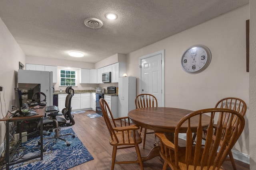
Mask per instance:
[[[24,53],[96,63],[127,54],[249,3],[249,0],[0,0],[0,18]],[[104,15],[113,12],[115,21]],[[99,29],[86,18],[103,22]],[[68,56],[81,51],[82,58]]]

